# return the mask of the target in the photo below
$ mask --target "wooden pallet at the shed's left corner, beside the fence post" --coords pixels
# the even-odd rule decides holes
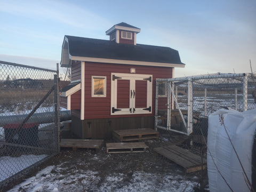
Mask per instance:
[[[95,139],[61,139],[60,147],[72,147],[73,150],[76,150],[77,148],[87,148],[99,151],[103,142],[104,140]]]

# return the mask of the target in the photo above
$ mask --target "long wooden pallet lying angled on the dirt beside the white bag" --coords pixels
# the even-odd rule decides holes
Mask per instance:
[[[185,173],[202,170],[201,157],[178,146],[165,146],[154,148],[158,154],[170,159],[172,162],[182,166]],[[203,169],[206,168],[206,159],[203,159]]]

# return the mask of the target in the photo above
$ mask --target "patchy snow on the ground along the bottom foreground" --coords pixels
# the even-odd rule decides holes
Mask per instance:
[[[109,173],[105,178],[97,171],[83,173],[74,170],[72,175],[60,173],[61,167],[48,166],[34,177],[15,186],[16,191],[194,191],[197,184],[183,180],[181,175],[169,173],[161,177],[157,173],[134,172],[132,179],[124,185],[124,174]],[[54,170],[54,171],[53,171]],[[98,185],[100,182],[100,185]]]

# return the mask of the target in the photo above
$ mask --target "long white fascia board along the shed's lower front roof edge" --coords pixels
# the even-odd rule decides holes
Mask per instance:
[[[131,61],[131,60],[118,60],[118,59],[104,59],[104,58],[91,58],[91,57],[79,57],[79,56],[71,56],[71,60],[87,61],[87,62],[116,63],[116,64],[124,64],[124,65],[141,65],[141,66],[185,68],[185,64],[158,63],[158,62],[146,62],[146,61]]]

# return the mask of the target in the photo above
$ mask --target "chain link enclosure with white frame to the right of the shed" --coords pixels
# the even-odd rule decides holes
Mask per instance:
[[[191,146],[201,148],[207,141],[208,116],[221,108],[256,108],[255,86],[255,74],[157,79],[155,127],[186,134]]]

